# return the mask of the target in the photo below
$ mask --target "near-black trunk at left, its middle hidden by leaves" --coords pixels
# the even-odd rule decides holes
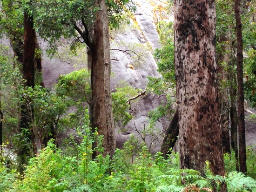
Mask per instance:
[[[26,80],[24,86],[34,87],[34,50],[35,50],[35,31],[34,31],[33,18],[28,15],[25,11],[24,13],[24,45],[23,45],[23,63],[22,72],[23,78]],[[18,149],[19,157],[19,171],[23,173],[23,165],[27,164],[27,161],[32,157],[33,153],[30,150],[30,144],[35,144],[33,139],[34,132],[31,129],[31,123],[34,118],[34,111],[31,102],[27,98],[24,98],[26,102],[21,105],[20,114],[20,133],[23,135],[22,145]],[[32,154],[31,154],[32,153]]]

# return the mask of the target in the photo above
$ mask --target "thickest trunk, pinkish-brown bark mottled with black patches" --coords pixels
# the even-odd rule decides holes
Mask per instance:
[[[175,74],[180,166],[224,175],[214,0],[175,0]],[[226,187],[222,187],[226,191]]]

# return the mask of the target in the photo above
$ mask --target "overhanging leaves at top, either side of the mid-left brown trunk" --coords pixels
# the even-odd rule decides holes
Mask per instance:
[[[94,0],[35,0],[30,4],[24,3],[24,7],[34,16],[37,32],[49,42],[48,53],[54,54],[61,37],[65,39],[75,37],[76,40],[71,44],[73,50],[81,42],[88,44],[91,38],[89,31],[93,29],[95,13],[100,9],[95,7],[94,3]],[[108,0],[106,6],[109,25],[114,28],[125,19],[123,17],[125,11],[135,10],[130,0]],[[77,38],[77,32],[80,34],[79,38]]]

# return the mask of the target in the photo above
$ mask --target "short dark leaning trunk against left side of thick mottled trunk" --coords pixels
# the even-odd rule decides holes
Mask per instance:
[[[168,126],[167,131],[165,132],[165,137],[163,138],[163,141],[162,141],[161,152],[162,152],[162,156],[165,159],[167,159],[168,154],[171,154],[169,149],[174,147],[177,141],[177,138],[179,136],[178,121],[179,121],[179,113],[177,109],[171,123]]]

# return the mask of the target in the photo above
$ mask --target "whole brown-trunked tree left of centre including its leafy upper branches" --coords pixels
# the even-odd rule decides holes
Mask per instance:
[[[57,51],[63,37],[73,40],[73,49],[80,43],[87,45],[91,62],[90,121],[92,128],[97,127],[97,132],[104,135],[104,156],[113,157],[115,151],[108,28],[117,27],[122,11],[133,8],[129,0],[35,0],[30,7],[35,29],[49,43],[49,53]]]

